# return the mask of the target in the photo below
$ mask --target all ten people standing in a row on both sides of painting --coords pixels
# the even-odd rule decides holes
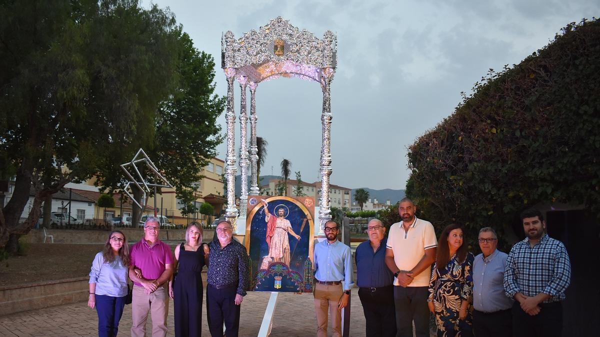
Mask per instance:
[[[430,312],[438,336],[560,336],[562,306],[571,277],[565,246],[545,233],[538,210],[521,215],[526,238],[509,254],[496,249],[490,227],[479,231],[474,256],[463,227],[448,225],[436,238],[433,225],[415,216],[409,198],[398,207],[402,221],[386,228],[369,222],[369,239],[355,253],[356,285],[367,336],[430,335]],[[202,276],[208,265],[206,308],[212,336],[237,336],[240,305],[248,288],[246,249],[233,240],[232,225],[217,225],[217,240],[202,243],[202,226],[190,224],[175,257],[158,239],[158,219],[149,217],[144,237],[128,248],[125,235],[113,231],[92,263],[89,301],[98,312],[100,336],[116,336],[133,281],[132,336],[145,335],[148,312],[152,335],[167,333],[169,298],[174,301],[175,335],[200,336]],[[341,336],[341,313],[354,286],[352,252],[340,242],[338,224],[325,224],[325,240],[314,246],[314,308],[317,336]],[[173,275],[174,270],[178,270]],[[414,326],[414,331],[413,331]]]

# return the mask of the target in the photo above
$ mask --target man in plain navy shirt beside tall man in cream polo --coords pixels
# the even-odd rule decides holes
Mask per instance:
[[[367,227],[369,239],[356,248],[356,285],[367,321],[367,337],[396,335],[394,275],[385,264],[388,239],[382,222],[373,219]]]

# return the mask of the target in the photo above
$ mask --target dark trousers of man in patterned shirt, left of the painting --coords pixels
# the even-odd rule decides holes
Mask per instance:
[[[224,289],[206,286],[206,318],[212,337],[223,337],[223,322],[225,336],[238,336],[240,306],[234,302],[237,290],[237,285]]]

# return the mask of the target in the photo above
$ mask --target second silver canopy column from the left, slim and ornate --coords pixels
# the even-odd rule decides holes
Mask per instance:
[[[248,85],[248,79],[245,76],[238,78],[239,88],[242,90],[241,95],[241,107],[239,109],[239,167],[241,169],[240,180],[241,180],[241,194],[239,197],[239,213],[242,218],[246,216],[246,209],[248,203],[248,114],[246,113],[246,86]]]

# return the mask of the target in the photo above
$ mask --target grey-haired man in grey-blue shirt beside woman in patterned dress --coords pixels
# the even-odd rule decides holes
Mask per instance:
[[[496,249],[498,237],[490,227],[479,230],[482,254],[473,262],[473,333],[477,337],[512,336],[512,299],[504,293],[506,253]]]

